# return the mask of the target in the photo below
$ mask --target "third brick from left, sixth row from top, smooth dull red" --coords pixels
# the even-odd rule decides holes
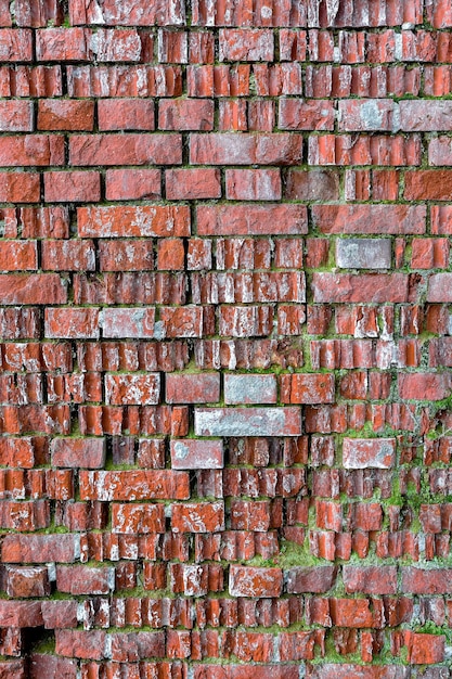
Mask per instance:
[[[107,201],[159,198],[160,175],[158,169],[109,169],[105,172],[105,197]]]

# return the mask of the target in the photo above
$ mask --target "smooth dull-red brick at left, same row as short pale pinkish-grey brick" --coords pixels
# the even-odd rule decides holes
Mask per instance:
[[[53,466],[102,469],[105,464],[105,439],[54,438],[50,452]]]

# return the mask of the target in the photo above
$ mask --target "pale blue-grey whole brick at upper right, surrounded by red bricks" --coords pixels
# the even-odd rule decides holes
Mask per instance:
[[[336,264],[341,269],[389,269],[390,239],[338,239]]]

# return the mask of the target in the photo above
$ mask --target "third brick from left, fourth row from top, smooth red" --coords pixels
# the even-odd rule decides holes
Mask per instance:
[[[154,102],[137,99],[101,99],[98,102],[99,129],[102,132],[116,130],[153,130]],[[144,140],[143,140],[144,141]]]

